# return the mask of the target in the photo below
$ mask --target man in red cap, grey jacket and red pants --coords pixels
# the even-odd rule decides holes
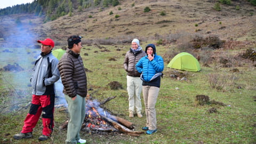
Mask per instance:
[[[58,70],[58,59],[55,58],[51,51],[54,42],[50,38],[41,43],[41,55],[38,56],[34,66],[34,72],[30,78],[33,88],[32,101],[29,113],[24,121],[24,125],[19,134],[14,135],[14,139],[23,139],[33,137],[33,128],[42,114],[43,130],[38,140],[47,140],[51,137],[53,131],[53,112],[54,112],[54,83],[60,78]]]

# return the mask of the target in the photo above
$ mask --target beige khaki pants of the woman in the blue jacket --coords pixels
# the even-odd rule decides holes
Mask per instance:
[[[156,86],[142,86],[143,99],[145,104],[145,112],[147,118],[147,124],[149,130],[156,129],[156,100],[159,93],[159,87]]]

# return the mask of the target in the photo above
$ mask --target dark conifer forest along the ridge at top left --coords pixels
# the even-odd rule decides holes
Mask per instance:
[[[31,13],[38,17],[45,15],[45,22],[63,15],[72,16],[73,10],[82,12],[89,7],[109,7],[119,5],[119,0],[35,0],[32,3],[9,6],[0,9],[0,16]]]

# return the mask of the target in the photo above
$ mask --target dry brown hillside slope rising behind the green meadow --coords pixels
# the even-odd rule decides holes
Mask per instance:
[[[133,37],[142,41],[158,40],[159,36],[184,33],[218,35],[223,40],[255,41],[255,6],[246,1],[231,2],[231,5],[221,4],[221,11],[216,11],[213,9],[215,1],[121,1],[121,5],[115,7],[89,8],[83,12],[75,10],[72,17],[65,15],[46,23],[42,17],[11,15],[0,17],[3,26],[0,36],[19,36],[15,34],[18,30],[12,27],[20,18],[26,33],[36,38],[53,38],[58,45],[65,45],[66,37],[73,34],[86,39],[114,38],[115,41],[130,41]],[[151,11],[143,12],[147,6]],[[110,11],[113,14],[110,15]],[[160,15],[161,12],[166,15]],[[119,18],[115,18],[116,15]]]

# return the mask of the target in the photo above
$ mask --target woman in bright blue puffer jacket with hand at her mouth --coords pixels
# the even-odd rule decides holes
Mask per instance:
[[[142,127],[147,134],[157,132],[156,127],[156,100],[159,93],[162,71],[164,70],[164,60],[156,54],[156,46],[148,44],[145,52],[147,55],[139,60],[136,69],[142,73],[142,93],[145,104],[147,124]]]

